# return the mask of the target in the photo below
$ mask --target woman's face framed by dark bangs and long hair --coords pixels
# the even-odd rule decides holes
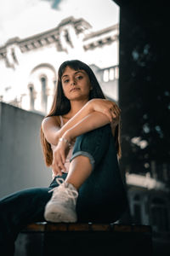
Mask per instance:
[[[71,67],[65,67],[61,82],[67,99],[70,101],[88,100],[91,84],[88,73],[84,70],[74,70]]]

